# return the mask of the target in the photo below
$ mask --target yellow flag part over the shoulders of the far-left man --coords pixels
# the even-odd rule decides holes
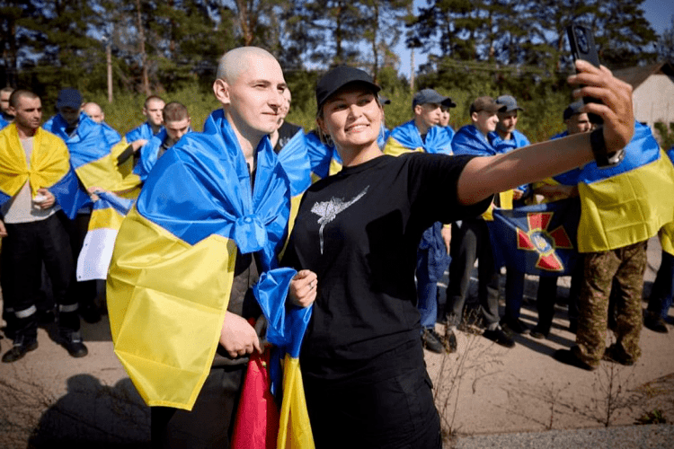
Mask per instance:
[[[63,140],[38,128],[29,169],[16,125],[12,123],[0,131],[0,190],[8,197],[16,195],[26,180],[31,184],[32,196],[38,189],[53,186],[70,170],[69,161]]]

